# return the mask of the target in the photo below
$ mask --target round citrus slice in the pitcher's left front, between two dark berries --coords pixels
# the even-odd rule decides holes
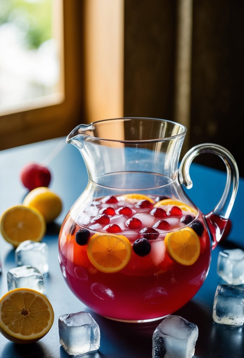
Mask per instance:
[[[131,243],[123,235],[94,234],[87,244],[87,255],[99,271],[113,273],[130,261]]]

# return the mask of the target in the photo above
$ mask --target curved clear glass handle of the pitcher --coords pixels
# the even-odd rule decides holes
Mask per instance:
[[[192,187],[189,174],[191,162],[201,153],[218,155],[224,161],[227,170],[226,184],[222,197],[213,211],[204,215],[206,225],[211,233],[212,247],[214,248],[221,239],[235,201],[239,184],[239,171],[233,155],[226,148],[213,143],[196,145],[184,155],[179,167],[179,182],[184,184],[187,189]]]

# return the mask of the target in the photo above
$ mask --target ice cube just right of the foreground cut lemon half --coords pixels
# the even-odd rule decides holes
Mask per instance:
[[[65,314],[58,320],[60,344],[68,354],[83,354],[100,347],[100,329],[88,312]]]

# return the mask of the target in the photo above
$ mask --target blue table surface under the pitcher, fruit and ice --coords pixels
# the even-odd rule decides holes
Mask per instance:
[[[20,170],[34,161],[46,164],[52,173],[50,189],[63,202],[60,216],[50,224],[43,239],[49,246],[49,274],[45,279],[45,294],[52,303],[55,319],[49,333],[39,342],[18,345],[0,335],[0,357],[52,357],[67,358],[68,354],[59,344],[58,318],[67,313],[88,311],[101,330],[101,346],[97,352],[83,354],[83,358],[150,358],[152,357],[152,334],[160,321],[149,324],[120,323],[103,318],[81,303],[66,286],[58,262],[58,233],[60,225],[70,207],[83,192],[88,176],[79,151],[65,143],[65,138],[56,138],[0,152],[0,214],[12,205],[21,204],[27,189],[20,180]],[[219,201],[226,182],[226,173],[192,163],[190,175],[193,187],[186,190],[192,201],[206,214]],[[213,300],[216,287],[222,283],[216,274],[219,251],[224,248],[243,248],[243,198],[244,179],[240,179],[236,200],[231,211],[232,229],[228,238],[213,250],[209,275],[199,292],[183,308],[174,314],[180,315],[199,328],[195,357],[244,357],[243,327],[231,328],[213,322]],[[0,296],[8,291],[7,272],[16,267],[13,247],[0,234]]]

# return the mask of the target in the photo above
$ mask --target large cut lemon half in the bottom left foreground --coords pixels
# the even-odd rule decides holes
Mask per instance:
[[[53,325],[54,312],[46,296],[19,288],[0,299],[0,332],[12,342],[26,344],[43,338]]]

